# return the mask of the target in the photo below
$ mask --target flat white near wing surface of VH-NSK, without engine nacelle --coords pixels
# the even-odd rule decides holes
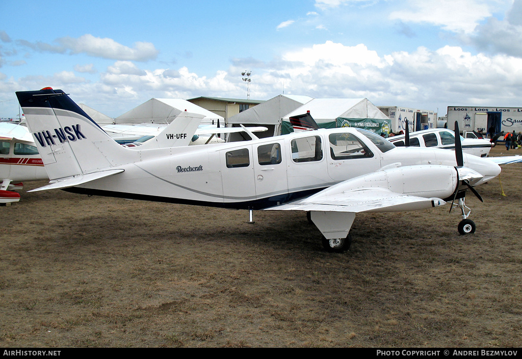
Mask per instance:
[[[268,208],[280,211],[323,211],[323,212],[399,212],[414,211],[446,202],[440,198],[425,198],[394,193],[384,188],[369,188],[322,196],[318,194],[290,204]]]

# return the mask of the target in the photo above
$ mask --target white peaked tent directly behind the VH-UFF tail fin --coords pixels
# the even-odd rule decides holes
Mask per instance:
[[[224,118],[203,107],[182,99],[150,99],[114,119],[115,124],[168,124],[181,112],[187,111],[204,115],[201,125],[224,126]]]

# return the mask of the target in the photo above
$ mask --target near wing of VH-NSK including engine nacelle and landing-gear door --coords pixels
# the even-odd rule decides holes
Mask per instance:
[[[422,179],[416,181],[414,179]],[[417,165],[383,169],[267,210],[307,211],[327,240],[345,238],[355,214],[443,206],[458,185],[455,167]]]

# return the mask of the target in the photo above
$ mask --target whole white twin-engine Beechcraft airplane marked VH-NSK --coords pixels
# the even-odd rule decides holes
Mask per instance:
[[[446,200],[458,199],[463,218],[459,232],[472,233],[466,190],[478,196],[472,186],[501,172],[487,159],[462,154],[460,144],[457,155],[443,149],[400,148],[355,128],[206,146],[125,148],[62,90],[16,94],[51,179],[50,185],[35,190],[306,211],[330,252],[349,248],[355,213],[420,210]],[[193,122],[174,137],[191,137],[199,124]]]

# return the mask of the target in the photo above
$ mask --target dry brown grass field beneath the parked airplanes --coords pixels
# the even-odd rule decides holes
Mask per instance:
[[[520,347],[521,178],[469,194],[474,234],[448,205],[360,214],[342,255],[304,213],[27,183],[0,207],[0,346]]]

